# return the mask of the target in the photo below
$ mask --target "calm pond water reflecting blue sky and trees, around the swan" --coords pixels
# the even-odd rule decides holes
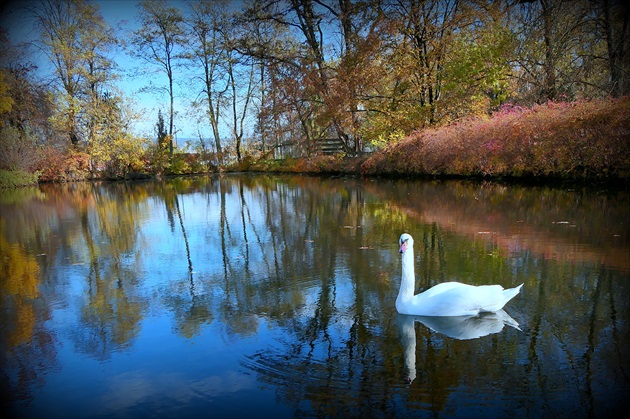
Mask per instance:
[[[627,190],[225,175],[2,191],[0,210],[3,417],[582,418],[628,403]],[[418,291],[521,294],[500,315],[398,315],[404,231]]]

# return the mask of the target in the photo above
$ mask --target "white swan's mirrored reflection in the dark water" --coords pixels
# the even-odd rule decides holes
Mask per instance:
[[[499,333],[503,326],[508,325],[521,330],[519,324],[504,310],[493,313],[482,313],[477,316],[410,316],[399,314],[397,323],[400,330],[401,342],[405,351],[405,368],[408,371],[407,384],[416,378],[416,329],[415,322],[453,339],[469,340]]]

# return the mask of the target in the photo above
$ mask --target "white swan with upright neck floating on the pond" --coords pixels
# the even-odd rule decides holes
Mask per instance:
[[[497,312],[519,293],[523,284],[504,290],[501,285],[467,285],[444,282],[423,293],[414,295],[415,273],[413,238],[400,236],[402,280],[396,310],[400,314],[417,316],[476,316],[483,312]]]

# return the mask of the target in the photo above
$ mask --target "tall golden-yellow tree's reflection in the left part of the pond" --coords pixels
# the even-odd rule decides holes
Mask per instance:
[[[81,307],[84,327],[71,336],[81,352],[108,359],[139,333],[143,303],[129,297],[135,274],[123,262],[139,235],[138,202],[123,185],[91,185],[94,206],[79,206],[78,217],[89,257],[88,300]]]

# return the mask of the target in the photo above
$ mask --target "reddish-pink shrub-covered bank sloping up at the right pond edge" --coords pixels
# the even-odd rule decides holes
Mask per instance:
[[[533,108],[419,131],[370,156],[363,175],[630,179],[630,97]]]

